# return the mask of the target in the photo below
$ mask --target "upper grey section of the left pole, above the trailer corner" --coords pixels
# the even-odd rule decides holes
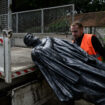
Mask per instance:
[[[8,0],[8,29],[12,29],[12,0]]]

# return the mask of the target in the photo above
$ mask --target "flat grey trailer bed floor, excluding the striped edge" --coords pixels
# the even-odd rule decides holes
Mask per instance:
[[[11,48],[11,71],[16,72],[34,66],[31,59],[32,48]]]

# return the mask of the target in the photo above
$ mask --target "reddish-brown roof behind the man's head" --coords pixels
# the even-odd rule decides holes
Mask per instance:
[[[80,21],[83,26],[102,27],[105,26],[105,11],[77,14],[74,20]]]

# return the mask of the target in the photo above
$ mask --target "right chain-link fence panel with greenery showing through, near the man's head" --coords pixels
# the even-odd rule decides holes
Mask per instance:
[[[73,20],[72,5],[60,8],[44,9],[44,32],[69,31],[70,17]]]

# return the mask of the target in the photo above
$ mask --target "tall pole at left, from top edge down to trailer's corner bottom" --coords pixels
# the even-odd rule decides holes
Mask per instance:
[[[6,32],[7,36],[4,36],[5,46],[4,46],[4,60],[5,60],[5,81],[6,83],[11,83],[11,40],[9,39],[9,30],[12,30],[12,0],[8,0],[8,30]]]

